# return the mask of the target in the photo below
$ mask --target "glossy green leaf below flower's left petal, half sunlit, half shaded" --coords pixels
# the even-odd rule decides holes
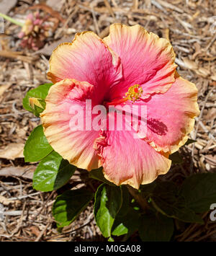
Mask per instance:
[[[33,187],[44,192],[57,190],[70,180],[75,170],[75,166],[53,151],[38,164],[33,176]]]

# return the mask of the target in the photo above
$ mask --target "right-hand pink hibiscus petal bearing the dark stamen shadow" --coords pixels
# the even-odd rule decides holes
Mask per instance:
[[[174,153],[183,146],[199,115],[197,87],[176,73],[176,81],[164,94],[155,94],[147,105],[147,140],[158,151]]]

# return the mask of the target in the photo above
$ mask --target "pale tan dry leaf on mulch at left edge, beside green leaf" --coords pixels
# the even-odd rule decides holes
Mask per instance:
[[[4,147],[4,149],[0,149],[0,158],[14,160],[23,156],[23,143],[10,143]]]

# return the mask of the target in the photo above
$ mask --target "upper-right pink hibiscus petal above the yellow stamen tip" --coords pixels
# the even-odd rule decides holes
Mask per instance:
[[[148,33],[140,25],[127,27],[114,24],[104,41],[121,58],[124,80],[112,87],[113,98],[122,97],[128,87],[140,84],[143,98],[153,93],[164,93],[174,82],[175,53],[171,43]]]

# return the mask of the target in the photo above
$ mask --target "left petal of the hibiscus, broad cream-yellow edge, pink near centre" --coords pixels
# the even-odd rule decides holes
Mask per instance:
[[[94,86],[65,79],[50,87],[45,110],[40,115],[45,136],[53,149],[76,167],[88,170],[101,166],[93,149],[99,131],[85,131],[85,127],[84,131],[76,131],[71,118],[76,115],[73,110],[79,111],[79,107],[85,112],[86,99],[91,98],[94,99]]]

